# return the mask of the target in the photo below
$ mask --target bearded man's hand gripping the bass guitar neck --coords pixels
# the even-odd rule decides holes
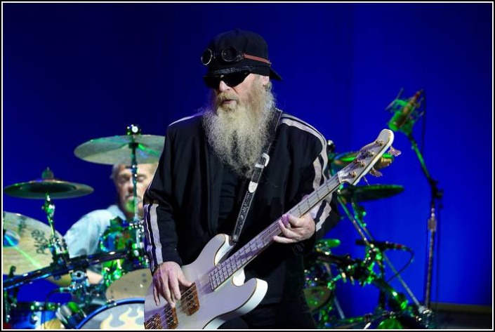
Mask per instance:
[[[315,220],[310,213],[306,213],[301,218],[286,213],[279,220],[279,225],[283,237],[276,235],[273,240],[281,244],[293,244],[309,239],[315,233],[316,228]]]

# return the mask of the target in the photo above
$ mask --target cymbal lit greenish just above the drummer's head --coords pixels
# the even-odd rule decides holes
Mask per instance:
[[[136,142],[138,164],[157,162],[164,148],[165,137],[157,135],[121,135],[96,138],[85,142],[74,150],[76,157],[96,164],[131,165],[131,146]]]

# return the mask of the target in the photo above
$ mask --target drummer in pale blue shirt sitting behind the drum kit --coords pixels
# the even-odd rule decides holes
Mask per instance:
[[[143,217],[143,194],[153,179],[157,163],[138,164],[137,196],[138,214]],[[64,236],[70,258],[79,255],[93,255],[100,252],[100,237],[110,227],[111,220],[132,220],[134,217],[133,175],[131,168],[118,164],[112,167],[111,177],[117,190],[117,201],[105,209],[91,211],[83,215]],[[103,279],[101,267],[91,266],[86,271],[90,284],[98,284]],[[60,286],[68,286],[70,277],[52,280]]]

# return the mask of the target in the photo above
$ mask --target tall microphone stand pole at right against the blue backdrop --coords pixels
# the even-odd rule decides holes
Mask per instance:
[[[428,324],[432,318],[433,312],[430,309],[431,305],[431,288],[432,288],[432,275],[433,275],[433,257],[435,255],[435,241],[437,236],[437,224],[438,224],[438,208],[442,207],[441,199],[443,197],[443,190],[439,189],[437,186],[437,180],[434,180],[428,168],[426,168],[425,160],[423,155],[418,149],[418,143],[414,140],[411,132],[407,132],[407,138],[411,141],[412,149],[418,157],[419,163],[421,164],[421,170],[428,180],[428,185],[430,185],[431,199],[430,199],[430,218],[428,218],[428,248],[427,248],[427,260],[426,260],[426,270],[425,270],[425,289],[424,289],[424,307],[421,308],[423,314],[425,315],[425,321]]]

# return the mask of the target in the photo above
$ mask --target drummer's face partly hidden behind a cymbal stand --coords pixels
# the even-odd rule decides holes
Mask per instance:
[[[154,169],[150,166],[150,164],[138,165],[136,192],[138,194],[138,208],[140,215],[143,215],[143,195],[145,194],[147,186],[153,179],[153,171]],[[130,168],[126,168],[124,165],[119,167],[119,172],[115,178],[115,187],[117,187],[120,207],[129,218],[132,217],[134,215],[134,185]]]

